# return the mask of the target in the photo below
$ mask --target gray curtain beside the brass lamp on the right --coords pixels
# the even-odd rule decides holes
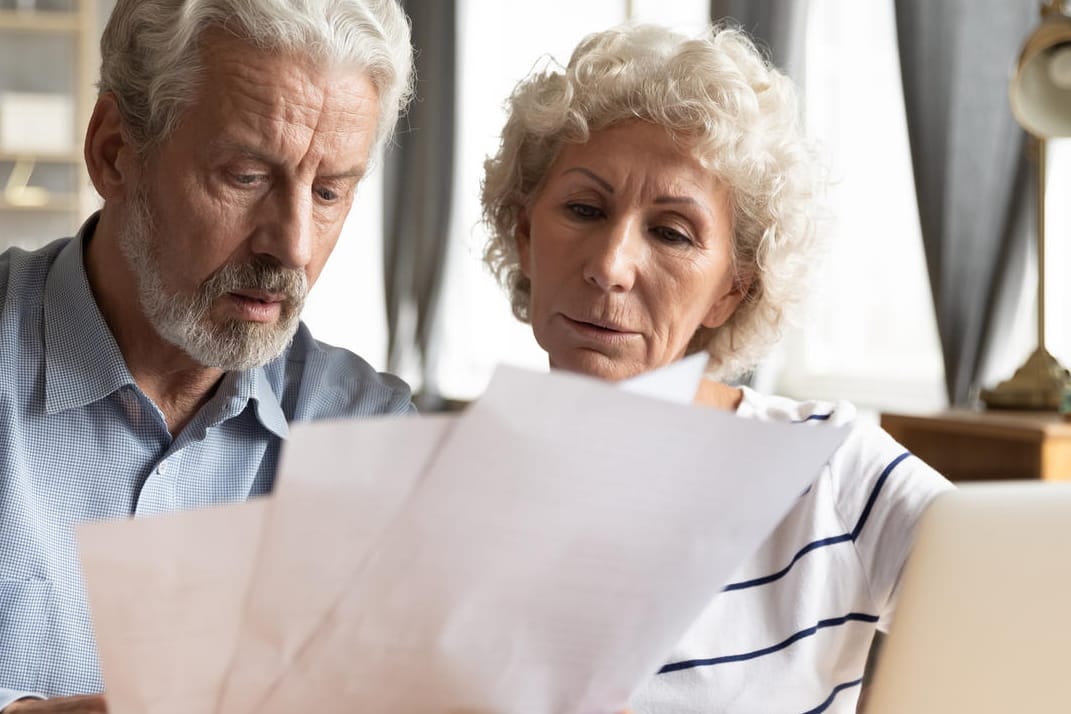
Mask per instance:
[[[952,405],[1022,285],[1036,191],[1008,80],[1038,0],[896,0],[922,239]]]

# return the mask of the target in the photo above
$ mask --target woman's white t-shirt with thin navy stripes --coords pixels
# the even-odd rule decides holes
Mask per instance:
[[[856,711],[922,510],[950,484],[847,402],[744,389],[737,413],[851,432],[633,697],[636,714]],[[716,510],[711,511],[716,518]]]

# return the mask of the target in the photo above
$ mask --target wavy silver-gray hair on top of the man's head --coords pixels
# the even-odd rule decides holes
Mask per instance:
[[[118,0],[101,37],[99,88],[116,96],[139,152],[164,141],[193,101],[211,28],[367,73],[380,103],[376,148],[412,94],[409,22],[397,0]]]

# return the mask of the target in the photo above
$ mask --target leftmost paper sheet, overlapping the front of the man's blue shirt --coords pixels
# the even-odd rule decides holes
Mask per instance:
[[[211,712],[268,501],[78,528],[109,712]]]

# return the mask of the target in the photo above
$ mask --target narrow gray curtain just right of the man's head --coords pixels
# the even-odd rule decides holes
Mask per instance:
[[[417,95],[383,167],[383,287],[388,369],[418,375],[417,406],[441,406],[436,322],[454,171],[456,2],[406,0]]]

